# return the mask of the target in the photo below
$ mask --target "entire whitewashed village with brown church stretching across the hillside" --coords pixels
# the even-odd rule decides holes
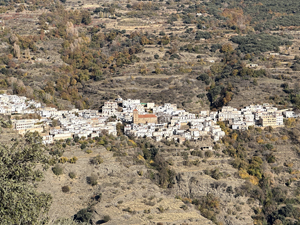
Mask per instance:
[[[199,114],[178,109],[176,104],[141,103],[139,99],[107,101],[102,112],[97,110],[57,110],[16,95],[0,95],[0,113],[12,116],[12,126],[19,134],[38,131],[44,144],[69,138],[94,138],[103,132],[117,135],[117,124],[125,124],[127,136],[149,137],[155,141],[167,139],[183,143],[211,137],[219,141],[225,136],[220,123],[233,130],[249,126],[280,127],[283,118],[298,117],[289,109],[278,110],[270,104],[250,105],[240,110],[224,106],[219,112],[200,111]],[[20,119],[20,115],[38,115],[36,119]]]

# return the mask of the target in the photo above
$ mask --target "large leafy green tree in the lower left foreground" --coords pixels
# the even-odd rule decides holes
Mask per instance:
[[[8,147],[0,144],[0,221],[1,224],[37,224],[47,221],[44,216],[51,205],[51,196],[38,193],[32,183],[42,178],[36,170],[46,163],[42,138],[26,133],[25,142],[14,140]]]

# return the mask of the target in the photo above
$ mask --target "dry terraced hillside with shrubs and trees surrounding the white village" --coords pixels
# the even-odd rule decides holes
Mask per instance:
[[[189,112],[300,108],[296,0],[0,0],[0,91],[58,109],[121,96]],[[299,224],[299,121],[183,145],[41,145],[1,120],[2,224]],[[203,151],[201,146],[213,146]]]

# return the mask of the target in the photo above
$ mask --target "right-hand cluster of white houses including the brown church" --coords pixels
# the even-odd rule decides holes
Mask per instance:
[[[224,106],[219,112],[200,111],[193,114],[178,109],[176,104],[156,106],[154,103],[141,103],[139,99],[121,98],[106,102],[102,112],[126,122],[124,133],[128,136],[179,143],[201,140],[204,136],[211,136],[214,141],[220,140],[225,132],[218,122],[225,122],[235,130],[246,130],[249,126],[280,127],[284,125],[283,117],[296,117],[293,111],[278,110],[269,104],[250,105],[240,110]]]

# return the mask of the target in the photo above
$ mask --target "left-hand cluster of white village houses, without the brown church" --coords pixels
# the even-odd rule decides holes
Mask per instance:
[[[12,126],[19,134],[37,131],[44,144],[55,140],[97,137],[102,132],[117,135],[117,122],[109,122],[97,110],[57,110],[16,95],[0,95],[0,114],[11,115]],[[37,115],[35,119],[19,119],[20,115]],[[30,117],[30,116],[29,116]]]

